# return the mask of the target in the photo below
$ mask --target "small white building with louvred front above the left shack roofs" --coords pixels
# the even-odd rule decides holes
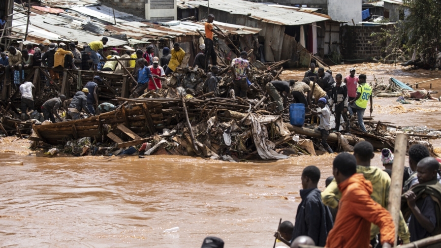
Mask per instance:
[[[153,1],[152,3],[151,0],[147,0],[145,4],[145,19],[151,21],[176,20],[177,18],[176,0],[172,0],[172,1],[164,0],[164,5],[158,5],[157,3],[162,1],[156,0]]]

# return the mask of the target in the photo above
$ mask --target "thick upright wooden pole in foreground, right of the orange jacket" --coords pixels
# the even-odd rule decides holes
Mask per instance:
[[[392,215],[395,224],[395,243],[398,239],[398,223],[400,220],[401,190],[403,188],[404,161],[406,159],[407,136],[397,134],[395,138],[395,154],[392,165],[391,186],[389,190],[388,210]]]

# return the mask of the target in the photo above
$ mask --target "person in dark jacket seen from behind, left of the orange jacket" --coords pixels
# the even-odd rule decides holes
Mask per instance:
[[[333,221],[329,208],[322,202],[318,189],[320,170],[316,166],[307,166],[302,172],[302,201],[297,207],[296,222],[291,239],[286,240],[276,233],[277,239],[287,245],[299,236],[308,236],[319,246],[326,244],[326,238],[332,229]]]

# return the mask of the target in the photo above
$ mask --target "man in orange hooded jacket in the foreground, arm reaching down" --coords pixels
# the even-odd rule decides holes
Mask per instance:
[[[380,227],[383,247],[392,247],[395,226],[391,214],[370,197],[372,184],[357,174],[357,161],[350,153],[339,154],[332,173],[341,191],[338,214],[329,232],[326,247],[369,247],[370,223]]]

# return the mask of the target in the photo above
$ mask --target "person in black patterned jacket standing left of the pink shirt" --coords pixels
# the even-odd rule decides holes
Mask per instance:
[[[346,122],[345,132],[350,131],[348,118],[348,88],[346,84],[341,82],[341,74],[335,75],[335,83],[332,85],[331,96],[329,98],[329,108],[334,106],[335,113],[335,131],[340,131],[340,119],[343,115],[343,120]]]

